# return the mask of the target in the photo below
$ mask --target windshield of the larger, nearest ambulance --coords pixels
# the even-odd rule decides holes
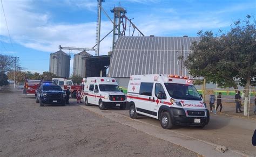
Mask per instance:
[[[197,89],[193,85],[164,83],[169,95],[174,99],[201,101]]]

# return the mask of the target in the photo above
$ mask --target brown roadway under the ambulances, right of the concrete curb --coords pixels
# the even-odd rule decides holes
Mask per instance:
[[[111,111],[129,117],[128,110]],[[221,115],[211,115],[210,117],[210,123],[206,125],[204,129],[189,126],[176,126],[170,131],[213,144],[224,145],[233,151],[256,156],[256,147],[252,146],[251,141],[253,132],[256,129],[256,120]],[[157,119],[139,116],[138,120],[161,127]]]

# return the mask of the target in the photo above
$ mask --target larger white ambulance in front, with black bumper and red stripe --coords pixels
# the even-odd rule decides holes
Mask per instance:
[[[127,90],[130,117],[138,114],[160,120],[164,129],[173,125],[204,127],[210,119],[206,103],[187,77],[132,75]]]

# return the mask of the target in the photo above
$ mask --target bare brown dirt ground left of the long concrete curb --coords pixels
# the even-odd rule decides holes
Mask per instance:
[[[0,156],[197,156],[83,109],[74,99],[66,106],[35,102],[21,91],[0,92]]]

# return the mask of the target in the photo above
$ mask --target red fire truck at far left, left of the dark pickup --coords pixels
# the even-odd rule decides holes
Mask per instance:
[[[22,95],[35,95],[36,89],[41,80],[25,80],[24,88],[22,90]]]

